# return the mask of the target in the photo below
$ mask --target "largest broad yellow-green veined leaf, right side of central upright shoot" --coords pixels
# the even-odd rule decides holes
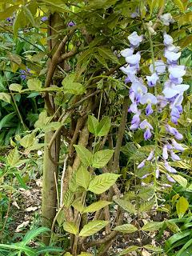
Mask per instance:
[[[95,176],[94,179],[90,181],[88,190],[94,194],[102,194],[108,190],[110,186],[114,185],[119,176],[118,174],[100,174]]]

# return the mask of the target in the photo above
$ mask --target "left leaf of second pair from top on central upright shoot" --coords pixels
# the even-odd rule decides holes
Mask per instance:
[[[78,157],[85,166],[91,166],[93,162],[93,155],[90,153],[90,150],[87,150],[85,146],[74,145],[75,150],[77,151]]]

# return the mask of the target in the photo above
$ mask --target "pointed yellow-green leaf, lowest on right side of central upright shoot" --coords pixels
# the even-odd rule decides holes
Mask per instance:
[[[78,234],[80,237],[88,237],[92,234],[97,233],[99,230],[102,230],[109,222],[106,221],[91,221],[85,226],[83,226],[81,232]]]

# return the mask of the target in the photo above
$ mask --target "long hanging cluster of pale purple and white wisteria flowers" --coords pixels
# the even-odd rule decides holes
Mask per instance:
[[[163,44],[165,46],[164,57],[166,62],[155,60],[150,64],[150,75],[146,78],[138,78],[139,63],[141,60],[140,52],[135,50],[143,40],[142,35],[133,32],[128,36],[130,48],[121,51],[122,57],[126,59],[126,66],[122,66],[120,70],[126,74],[126,83],[130,83],[130,107],[129,112],[133,114],[130,130],[144,130],[144,139],[148,140],[152,137],[154,127],[149,122],[149,116],[156,111],[159,114],[165,107],[170,109],[170,120],[166,120],[166,133],[170,134],[170,138],[163,139],[161,142],[162,154],[155,154],[152,150],[149,156],[138,164],[138,169],[146,165],[146,162],[161,161],[164,166],[166,178],[170,182],[175,182],[171,174],[176,174],[168,159],[171,161],[179,161],[180,157],[175,152],[182,152],[184,148],[177,141],[182,140],[183,136],[174,127],[178,124],[178,118],[182,114],[183,93],[189,89],[189,85],[182,84],[182,77],[186,74],[185,66],[178,65],[178,59],[181,52],[178,46],[174,46],[174,39],[169,35],[163,34]],[[162,79],[163,78],[163,79]],[[163,85],[160,83],[163,82]],[[157,90],[158,86],[158,90]],[[153,88],[154,87],[154,88]],[[155,88],[156,87],[156,88]],[[161,94],[158,94],[159,89]],[[143,106],[145,114],[143,114]],[[144,116],[144,118],[143,118]],[[151,119],[150,119],[151,120]],[[158,120],[156,119],[156,122]],[[170,123],[173,125],[170,125]],[[158,129],[158,124],[157,124]],[[156,149],[157,150],[157,149]],[[159,178],[160,170],[156,165],[155,176]],[[149,174],[144,175],[146,178]]]

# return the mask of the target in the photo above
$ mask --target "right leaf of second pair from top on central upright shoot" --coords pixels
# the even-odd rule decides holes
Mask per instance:
[[[96,152],[93,157],[92,166],[95,168],[102,168],[103,166],[106,166],[113,154],[114,150],[100,150]]]

